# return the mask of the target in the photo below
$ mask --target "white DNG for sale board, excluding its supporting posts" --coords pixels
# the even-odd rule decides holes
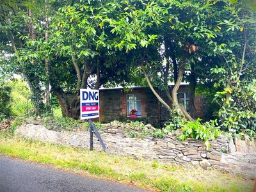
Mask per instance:
[[[99,117],[99,90],[80,89],[80,118]]]

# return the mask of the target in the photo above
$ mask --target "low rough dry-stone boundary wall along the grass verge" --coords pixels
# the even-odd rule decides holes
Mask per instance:
[[[236,148],[245,148],[248,141],[238,141],[236,144],[227,136],[221,136],[211,141],[211,148],[207,150],[204,143],[189,139],[180,142],[176,134],[168,134],[166,138],[153,138],[141,134],[140,138],[131,138],[131,134],[140,135],[141,131],[151,132],[154,127],[146,125],[143,129],[131,127],[131,124],[111,122],[105,124],[105,129],[99,130],[100,136],[108,148],[109,154],[133,156],[136,159],[151,159],[168,163],[189,163],[207,169],[225,168],[256,178],[256,147],[249,143],[248,150],[239,152]],[[88,131],[51,131],[43,125],[24,124],[15,131],[24,138],[71,145],[73,147],[90,148],[90,132]],[[240,143],[240,144],[239,144]],[[242,143],[242,144],[241,144]],[[102,150],[96,136],[93,136],[93,149]]]

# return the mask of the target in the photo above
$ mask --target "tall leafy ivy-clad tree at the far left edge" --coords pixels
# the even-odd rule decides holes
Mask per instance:
[[[3,67],[14,74],[22,74],[28,81],[33,93],[32,100],[36,115],[41,115],[44,109],[42,87],[45,87],[45,81],[43,80],[43,60],[35,54],[38,51],[35,42],[44,34],[40,29],[43,29],[45,24],[42,18],[44,18],[43,15],[47,15],[44,12],[47,3],[47,1],[3,1],[1,3],[1,33],[4,36],[2,43],[5,45],[2,52],[9,54],[6,61],[9,65],[3,65]],[[28,42],[33,46],[29,46]],[[12,51],[10,48],[6,49],[10,45],[12,45]]]

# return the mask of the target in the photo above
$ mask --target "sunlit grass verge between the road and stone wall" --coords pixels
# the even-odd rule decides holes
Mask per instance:
[[[253,189],[252,180],[221,170],[135,160],[83,148],[24,140],[6,133],[0,133],[0,155],[48,164],[80,175],[133,184],[152,191],[250,192]]]

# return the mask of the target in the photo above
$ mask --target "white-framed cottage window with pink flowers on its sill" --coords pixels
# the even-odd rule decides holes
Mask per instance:
[[[140,94],[127,94],[127,116],[132,109],[137,109],[137,116],[141,116],[141,99]]]

